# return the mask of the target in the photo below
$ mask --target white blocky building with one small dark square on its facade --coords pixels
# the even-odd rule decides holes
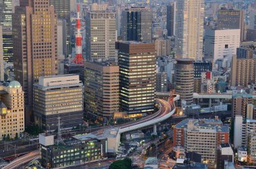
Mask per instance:
[[[204,57],[206,60],[228,58],[236,55],[236,48],[240,46],[240,29],[234,30],[205,30]]]

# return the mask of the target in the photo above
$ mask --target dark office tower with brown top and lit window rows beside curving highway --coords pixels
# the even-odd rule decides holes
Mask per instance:
[[[117,42],[120,109],[129,114],[154,111],[156,50],[150,42]]]

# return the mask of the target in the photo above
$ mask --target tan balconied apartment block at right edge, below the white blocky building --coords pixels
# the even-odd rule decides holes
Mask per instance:
[[[256,83],[256,59],[232,57],[231,86],[248,86]]]

